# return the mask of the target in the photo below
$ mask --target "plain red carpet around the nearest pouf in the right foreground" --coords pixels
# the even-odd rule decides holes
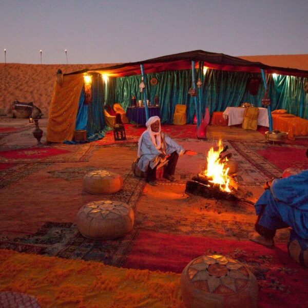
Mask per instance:
[[[258,279],[259,307],[303,307],[308,302],[306,269],[288,256],[286,244],[270,249],[249,241],[142,230],[124,267],[181,273],[191,259],[203,254],[221,254],[245,263]]]

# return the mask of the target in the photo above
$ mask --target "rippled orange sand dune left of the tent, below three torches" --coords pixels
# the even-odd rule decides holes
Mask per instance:
[[[7,108],[17,99],[33,102],[48,117],[56,71],[63,73],[113,64],[0,64],[0,108]]]

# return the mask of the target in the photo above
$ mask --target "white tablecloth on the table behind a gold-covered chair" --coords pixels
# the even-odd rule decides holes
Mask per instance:
[[[244,107],[227,107],[222,116],[228,119],[228,126],[242,124],[244,111]],[[258,125],[269,127],[267,108],[259,108]]]

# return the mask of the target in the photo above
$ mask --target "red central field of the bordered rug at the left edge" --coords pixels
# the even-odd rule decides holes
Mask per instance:
[[[60,155],[69,152],[70,151],[57,148],[33,147],[11,151],[0,151],[0,156],[7,159],[42,159],[48,156]]]

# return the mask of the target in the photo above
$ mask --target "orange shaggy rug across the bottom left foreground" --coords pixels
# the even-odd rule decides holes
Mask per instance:
[[[34,296],[42,307],[184,307],[180,275],[0,249],[0,292]]]

